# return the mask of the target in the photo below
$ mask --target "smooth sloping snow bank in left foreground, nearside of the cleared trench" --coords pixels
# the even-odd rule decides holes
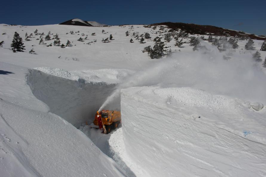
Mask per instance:
[[[124,176],[93,142],[50,113],[26,84],[27,68],[0,62],[0,176]],[[55,77],[55,76],[54,76]]]

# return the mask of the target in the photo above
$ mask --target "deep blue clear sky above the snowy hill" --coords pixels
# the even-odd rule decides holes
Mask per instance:
[[[265,0],[19,1],[1,2],[0,23],[58,24],[73,18],[109,25],[183,22],[266,35]]]

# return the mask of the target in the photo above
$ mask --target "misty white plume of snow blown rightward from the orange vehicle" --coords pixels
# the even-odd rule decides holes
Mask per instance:
[[[146,66],[144,71],[127,77],[107,97],[99,111],[119,97],[121,89],[151,85],[192,87],[266,104],[266,76],[260,67],[261,63],[255,62],[251,53],[219,52],[216,46],[204,41],[201,46],[205,47],[201,47],[198,52],[174,52],[170,57]],[[230,58],[225,60],[225,55],[230,55]]]

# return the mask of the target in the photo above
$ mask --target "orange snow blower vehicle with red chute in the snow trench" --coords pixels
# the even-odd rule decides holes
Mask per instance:
[[[120,111],[109,111],[102,110],[97,111],[95,119],[93,121],[93,128],[103,128],[104,134],[110,133],[111,129],[116,129],[121,123],[121,112]]]

